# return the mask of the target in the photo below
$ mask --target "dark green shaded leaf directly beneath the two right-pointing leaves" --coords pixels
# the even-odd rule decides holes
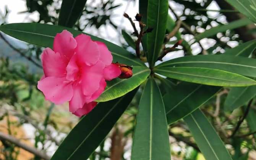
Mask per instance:
[[[165,94],[164,106],[167,123],[171,124],[189,115],[214,96],[221,87],[182,82]]]

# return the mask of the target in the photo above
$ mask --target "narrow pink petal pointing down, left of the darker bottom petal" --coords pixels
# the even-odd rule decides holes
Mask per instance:
[[[79,108],[84,106],[86,96],[83,94],[82,86],[80,84],[73,84],[73,98],[69,102],[69,111],[74,113]]]

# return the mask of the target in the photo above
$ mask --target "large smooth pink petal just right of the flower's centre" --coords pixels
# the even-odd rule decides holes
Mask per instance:
[[[84,95],[91,96],[99,89],[104,67],[100,61],[93,66],[83,66],[81,82]]]

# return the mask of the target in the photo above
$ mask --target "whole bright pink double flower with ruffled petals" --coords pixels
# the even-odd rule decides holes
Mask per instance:
[[[96,106],[94,100],[105,90],[105,80],[121,74],[104,43],[85,34],[74,38],[67,30],[56,35],[53,50],[45,48],[41,59],[44,76],[37,88],[55,104],[69,101],[70,112],[79,117]]]

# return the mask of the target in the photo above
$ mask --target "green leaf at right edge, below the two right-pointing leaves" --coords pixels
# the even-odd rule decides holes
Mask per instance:
[[[254,96],[256,96],[256,86],[231,88],[225,100],[224,109],[232,111],[249,102]]]

